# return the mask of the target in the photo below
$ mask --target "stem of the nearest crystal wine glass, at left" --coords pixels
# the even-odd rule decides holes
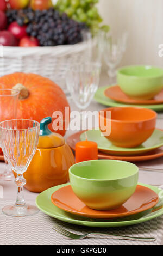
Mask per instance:
[[[24,179],[23,174],[17,174],[15,183],[17,185],[17,198],[15,206],[24,206],[26,203],[23,198],[23,186],[26,184],[26,179]]]

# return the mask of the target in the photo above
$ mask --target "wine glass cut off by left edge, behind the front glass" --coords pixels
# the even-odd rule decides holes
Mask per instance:
[[[3,87],[3,85],[2,85]],[[0,121],[15,119],[17,114],[19,92],[14,89],[0,89]],[[1,145],[0,145],[1,146]],[[12,180],[13,174],[11,168],[5,160],[5,169],[0,174],[0,180]]]

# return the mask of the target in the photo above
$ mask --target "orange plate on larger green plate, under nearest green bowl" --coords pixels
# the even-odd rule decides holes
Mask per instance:
[[[43,191],[36,198],[37,207],[58,220],[89,227],[120,227],[151,220],[163,214],[159,188],[139,184],[120,208],[98,211],[88,208],[73,193],[70,184]]]

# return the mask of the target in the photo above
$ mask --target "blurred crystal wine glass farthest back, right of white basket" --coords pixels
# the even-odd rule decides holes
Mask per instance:
[[[108,65],[108,75],[115,78],[117,66],[120,64],[123,54],[127,48],[128,33],[124,32],[118,36],[105,35],[105,62]]]

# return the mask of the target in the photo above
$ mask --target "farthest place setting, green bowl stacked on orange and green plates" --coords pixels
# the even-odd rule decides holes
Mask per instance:
[[[163,109],[163,69],[126,66],[118,70],[118,85],[100,88],[95,99],[105,106]]]

